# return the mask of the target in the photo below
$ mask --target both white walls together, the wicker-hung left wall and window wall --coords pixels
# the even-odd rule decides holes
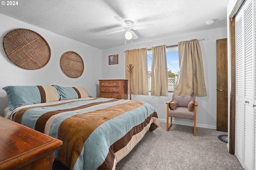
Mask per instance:
[[[216,40],[227,38],[227,28],[218,28],[205,32],[193,32],[175,37],[159,40],[152,40],[143,43],[126,43],[122,47],[104,49],[103,51],[86,45],[84,43],[71,40],[69,38],[54,34],[42,28],[15,20],[0,14],[0,38],[16,28],[26,28],[39,33],[48,42],[51,48],[51,59],[49,63],[38,70],[26,70],[16,66],[5,55],[3,48],[0,49],[0,87],[8,85],[52,85],[81,86],[92,96],[98,95],[98,79],[125,79],[125,53],[126,49],[151,48],[157,45],[176,45],[178,42],[200,40],[204,76],[207,96],[196,97],[198,101],[197,126],[216,129]],[[2,43],[1,43],[2,44]],[[1,45],[2,46],[2,45]],[[66,51],[75,51],[84,60],[84,73],[79,78],[66,76],[60,68],[60,57]],[[119,63],[108,65],[108,55],[119,55]],[[97,92],[96,92],[97,91]],[[97,96],[98,97],[98,96]],[[166,121],[166,101],[172,98],[172,93],[168,97],[132,95],[134,100],[143,100],[156,108],[160,121]],[[0,89],[0,115],[8,106],[6,92]],[[193,121],[185,119],[174,119],[174,123],[193,125]]]

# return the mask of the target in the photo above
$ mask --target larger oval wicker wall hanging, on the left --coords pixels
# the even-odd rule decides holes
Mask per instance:
[[[24,69],[40,69],[50,60],[51,49],[44,38],[28,29],[15,29],[3,38],[7,57]]]

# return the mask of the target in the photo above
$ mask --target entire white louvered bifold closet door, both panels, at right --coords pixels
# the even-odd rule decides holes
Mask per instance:
[[[246,170],[255,164],[254,1],[247,0],[236,16],[235,155]]]

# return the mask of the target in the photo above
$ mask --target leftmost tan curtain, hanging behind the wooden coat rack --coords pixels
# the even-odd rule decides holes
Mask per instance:
[[[125,59],[125,76],[126,79],[130,79],[129,68],[127,65],[132,64],[132,93],[134,95],[148,95],[148,58],[147,49],[131,49],[126,50]],[[128,81],[130,85],[130,80]],[[130,94],[130,88],[128,88]]]

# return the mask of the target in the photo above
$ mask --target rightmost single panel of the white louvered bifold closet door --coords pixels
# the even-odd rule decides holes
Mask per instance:
[[[248,1],[249,2],[249,1]],[[247,6],[248,5],[248,6]],[[244,164],[254,169],[254,32],[252,2],[244,4]]]

